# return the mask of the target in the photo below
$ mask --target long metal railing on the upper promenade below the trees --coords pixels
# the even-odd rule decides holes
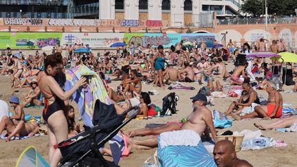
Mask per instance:
[[[268,17],[269,24],[275,23],[297,23],[297,16],[284,16],[284,17]],[[248,25],[248,24],[265,24],[265,17],[235,17],[227,19],[217,19],[218,25]]]

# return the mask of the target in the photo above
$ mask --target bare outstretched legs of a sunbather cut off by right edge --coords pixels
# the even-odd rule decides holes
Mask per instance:
[[[283,119],[278,120],[271,124],[256,124],[256,123],[254,123],[254,126],[256,126],[256,128],[259,128],[259,129],[265,131],[265,130],[272,130],[272,129],[276,129],[276,128],[289,128],[290,126],[292,126],[293,124],[296,124],[296,123],[297,123],[297,117],[291,117],[291,118],[283,118]]]

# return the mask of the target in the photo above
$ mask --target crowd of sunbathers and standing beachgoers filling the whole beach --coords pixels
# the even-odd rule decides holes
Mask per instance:
[[[75,122],[74,107],[69,105],[69,97],[83,85],[87,84],[82,77],[72,89],[64,91],[65,68],[76,65],[86,65],[89,69],[98,73],[104,82],[104,87],[111,102],[117,109],[131,107],[131,99],[139,100],[140,113],[138,117],[150,118],[151,93],[142,91],[142,87],[152,84],[154,87],[167,87],[175,82],[198,82],[206,84],[210,89],[209,94],[198,93],[190,98],[192,100],[192,113],[185,122],[168,122],[164,126],[155,129],[133,129],[125,133],[128,136],[129,145],[135,149],[151,149],[157,147],[157,135],[166,131],[178,131],[189,129],[197,132],[201,137],[206,137],[217,142],[214,147],[214,160],[219,166],[224,163],[236,164],[236,166],[251,166],[248,162],[237,159],[234,146],[228,141],[218,142],[217,133],[212,122],[212,114],[206,107],[206,96],[214,91],[223,91],[221,81],[230,82],[231,85],[240,85],[242,93],[238,101],[230,104],[225,115],[231,115],[235,120],[245,118],[280,118],[283,109],[283,97],[279,91],[281,83],[275,78],[279,77],[279,70],[274,68],[291,67],[290,63],[266,63],[260,58],[247,58],[252,52],[266,51],[267,39],[261,38],[252,46],[244,43],[239,47],[236,42],[230,40],[228,45],[220,48],[208,49],[205,42],[195,42],[191,47],[183,45],[183,41],[164,49],[162,45],[154,48],[151,45],[143,48],[141,45],[130,43],[129,47],[118,47],[116,52],[104,51],[101,56],[95,56],[89,45],[66,45],[63,49],[57,45],[52,54],[36,53],[24,56],[20,51],[18,56],[12,54],[8,47],[1,52],[0,74],[10,77],[12,93],[27,89],[22,102],[17,96],[12,96],[9,102],[14,107],[12,117],[5,116],[0,122],[0,133],[4,130],[8,133],[9,141],[12,136],[34,135],[38,132],[40,122],[25,122],[25,108],[28,105],[44,106],[43,120],[47,125],[50,137],[49,159],[51,166],[56,166],[61,159],[61,152],[54,145],[83,131],[82,126]],[[214,41],[214,45],[218,45]],[[76,49],[85,48],[90,52],[75,53]],[[270,51],[274,53],[285,52],[287,47],[283,38],[272,41]],[[135,51],[137,49],[137,52]],[[226,65],[234,62],[234,69],[228,71]],[[263,72],[265,78],[257,78],[254,75]],[[293,75],[296,73],[294,72]],[[111,79],[106,75],[111,76]],[[109,82],[120,80],[120,85],[113,88]],[[215,84],[215,85],[214,85]],[[296,82],[297,84],[297,82]],[[294,90],[297,91],[297,85]],[[265,89],[268,99],[265,104],[254,89],[259,85]],[[259,129],[272,129],[275,127],[287,127],[296,123],[296,118],[279,120],[274,124],[255,124]],[[135,140],[135,136],[156,135],[148,140]],[[105,151],[107,153],[108,151]],[[227,156],[227,157],[226,157]]]

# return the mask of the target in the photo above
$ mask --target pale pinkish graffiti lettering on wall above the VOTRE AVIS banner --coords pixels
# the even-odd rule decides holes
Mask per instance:
[[[91,19],[50,19],[49,25],[60,26],[97,26],[97,20]]]

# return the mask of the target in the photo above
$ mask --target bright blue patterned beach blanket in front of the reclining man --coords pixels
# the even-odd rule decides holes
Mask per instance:
[[[183,137],[187,138],[190,136],[186,135]],[[172,139],[174,140],[175,137],[172,137]],[[185,167],[186,166],[197,166],[197,167],[198,166],[208,166],[208,167],[216,166],[213,157],[208,153],[206,148],[204,148],[201,140],[199,140],[198,144],[195,146],[166,146],[164,148],[160,146],[161,140],[165,140],[165,139],[164,138],[162,139],[161,135],[159,135],[157,153],[158,153],[160,167],[162,166],[179,166],[179,167],[180,166],[185,166]],[[177,141],[178,140],[176,140],[176,142]]]

